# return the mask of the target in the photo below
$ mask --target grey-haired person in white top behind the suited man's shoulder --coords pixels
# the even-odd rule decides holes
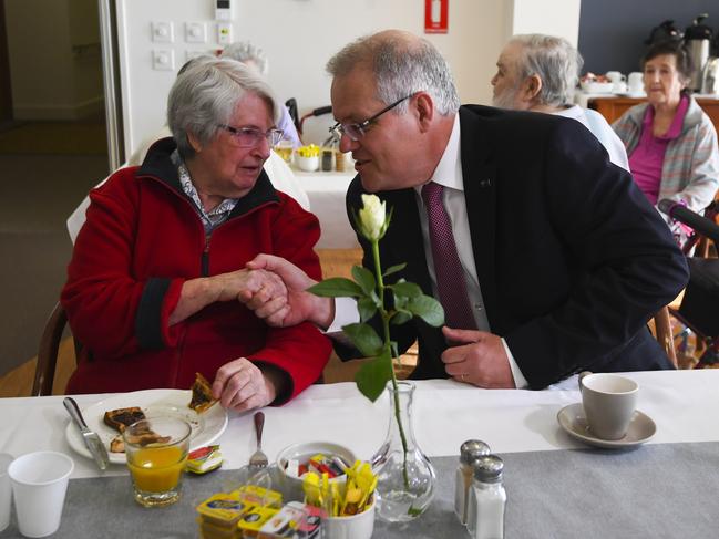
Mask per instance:
[[[602,114],[573,105],[584,60],[563,38],[540,33],[514,35],[504,46],[492,77],[492,104],[574,118],[602,143],[609,160],[628,170],[624,144]]]

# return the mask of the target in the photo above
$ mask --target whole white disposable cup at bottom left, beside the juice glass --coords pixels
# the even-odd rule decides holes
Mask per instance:
[[[20,533],[45,537],[58,531],[74,467],[72,458],[55,452],[29,453],[10,464]]]

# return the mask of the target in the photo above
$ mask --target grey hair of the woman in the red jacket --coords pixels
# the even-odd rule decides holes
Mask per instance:
[[[277,99],[253,69],[235,60],[202,58],[177,75],[167,97],[167,125],[183,157],[195,154],[187,133],[208,144],[227,124],[246,92],[260,96],[278,121]]]

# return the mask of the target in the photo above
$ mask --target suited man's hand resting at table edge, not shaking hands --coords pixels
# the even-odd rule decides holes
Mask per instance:
[[[510,360],[502,339],[486,331],[442,328],[451,345],[442,353],[444,370],[458,382],[477,387],[514,388]]]

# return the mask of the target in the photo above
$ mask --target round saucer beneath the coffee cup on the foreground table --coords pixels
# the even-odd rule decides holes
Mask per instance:
[[[643,414],[638,410],[631,416],[629,431],[622,439],[602,439],[597,438],[587,425],[582,403],[569,404],[557,413],[557,421],[564,431],[573,438],[584,442],[585,444],[605,449],[628,449],[644,444],[657,432],[657,425],[651,417]]]

